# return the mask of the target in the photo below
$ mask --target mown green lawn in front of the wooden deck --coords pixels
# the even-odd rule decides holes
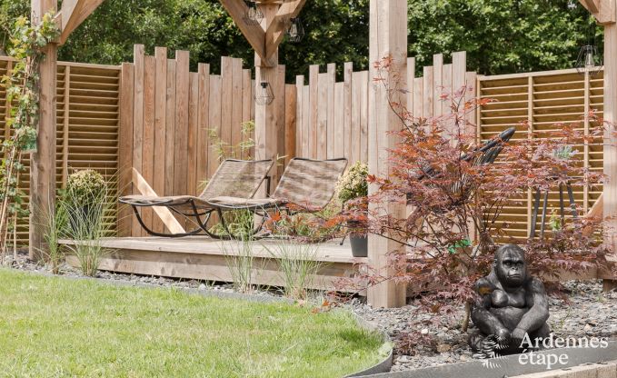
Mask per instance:
[[[340,377],[382,342],[350,313],[0,269],[0,376]]]

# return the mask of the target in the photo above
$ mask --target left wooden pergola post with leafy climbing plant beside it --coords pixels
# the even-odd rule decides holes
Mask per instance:
[[[57,9],[57,0],[32,0],[32,24],[40,22],[43,15]],[[45,46],[45,59],[39,66],[39,122],[36,152],[30,164],[30,240],[28,253],[31,259],[40,260],[45,255],[46,224],[42,212],[55,208],[55,100],[56,65],[58,46]]]

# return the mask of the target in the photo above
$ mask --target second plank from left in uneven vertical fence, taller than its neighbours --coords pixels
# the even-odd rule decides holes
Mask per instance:
[[[133,168],[142,172],[144,149],[144,45],[134,45],[134,110],[133,110]],[[133,218],[131,235],[144,235],[141,225]]]

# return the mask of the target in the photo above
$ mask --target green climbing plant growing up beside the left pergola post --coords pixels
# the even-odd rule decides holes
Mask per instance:
[[[45,14],[37,25],[30,25],[27,18],[19,17],[11,31],[8,53],[15,58],[15,63],[13,69],[2,77],[6,102],[14,104],[5,124],[12,132],[2,143],[4,157],[0,163],[0,252],[3,262],[8,233],[14,231],[15,248],[17,217],[27,214],[19,189],[20,174],[25,170],[22,157],[36,148],[38,67],[45,57],[45,46],[58,34],[52,13]]]

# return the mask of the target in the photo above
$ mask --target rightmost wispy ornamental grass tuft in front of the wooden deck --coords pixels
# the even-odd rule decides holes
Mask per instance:
[[[293,240],[279,239],[274,245],[264,244],[264,248],[278,262],[283,278],[284,295],[296,300],[306,300],[309,288],[324,263],[318,261],[318,244],[303,244]]]

